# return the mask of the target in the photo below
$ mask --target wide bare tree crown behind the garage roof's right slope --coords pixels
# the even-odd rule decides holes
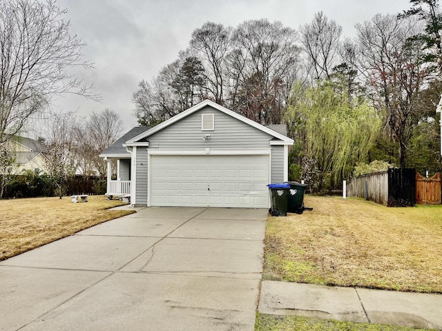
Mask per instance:
[[[299,60],[296,37],[293,29],[267,19],[245,21],[233,31],[233,46],[241,50],[235,55],[244,61],[234,110],[258,123],[280,123],[293,83],[287,78]]]

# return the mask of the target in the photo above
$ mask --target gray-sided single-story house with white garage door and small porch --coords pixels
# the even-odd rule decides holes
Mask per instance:
[[[133,128],[100,157],[107,194],[131,194],[132,205],[268,208],[267,184],[287,181],[293,143],[206,100],[153,128]]]

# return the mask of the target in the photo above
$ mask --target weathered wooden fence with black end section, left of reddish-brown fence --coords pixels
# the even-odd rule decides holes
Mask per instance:
[[[349,197],[361,197],[388,207],[416,204],[416,170],[399,168],[366,174],[347,185]]]

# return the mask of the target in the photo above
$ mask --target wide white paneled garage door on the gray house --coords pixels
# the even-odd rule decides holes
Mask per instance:
[[[151,205],[267,208],[268,155],[152,155]]]

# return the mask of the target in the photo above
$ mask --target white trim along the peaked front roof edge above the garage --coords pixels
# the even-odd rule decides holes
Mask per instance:
[[[173,123],[176,123],[177,121],[180,121],[181,119],[184,119],[184,117],[188,117],[190,114],[193,114],[194,112],[197,112],[198,110],[201,110],[202,108],[206,106],[211,106],[212,108],[215,108],[216,110],[219,110],[220,112],[224,112],[224,114],[227,114],[235,119],[238,119],[239,121],[242,121],[244,123],[249,124],[249,126],[253,126],[253,128],[257,128],[258,130],[261,130],[263,132],[266,132],[267,134],[270,134],[276,139],[280,140],[280,143],[282,145],[293,145],[294,140],[290,139],[289,137],[285,136],[284,134],[280,134],[279,132],[276,132],[275,130],[272,130],[269,127],[262,126],[259,123],[256,123],[256,121],[252,121],[251,119],[247,119],[247,117],[244,117],[240,114],[237,114],[236,112],[233,112],[232,110],[229,110],[223,106],[218,105],[218,103],[215,103],[210,100],[204,100],[197,105],[189,108],[188,110],[184,110],[184,112],[180,112],[180,114],[175,115],[174,117],[171,117],[170,119],[158,124],[157,126],[154,126],[153,128],[146,130],[145,132],[142,132],[138,134],[135,137],[132,137],[131,139],[128,139],[126,141],[125,146],[136,146],[137,143],[140,143],[140,140],[145,139],[155,132],[158,132],[164,128],[167,128],[168,126],[171,126]]]

